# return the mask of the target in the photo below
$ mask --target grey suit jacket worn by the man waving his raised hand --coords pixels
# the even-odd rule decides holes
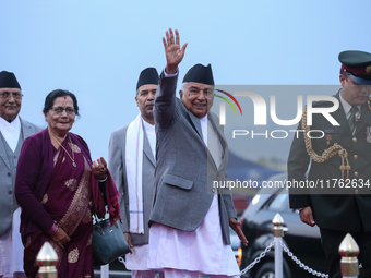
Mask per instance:
[[[159,222],[182,231],[194,231],[212,204],[213,181],[227,180],[228,146],[218,118],[208,113],[223,147],[222,164],[217,169],[203,142],[200,119],[176,97],[177,80],[178,76],[165,77],[163,73],[156,93],[156,192],[149,225]],[[230,193],[218,191],[220,219],[217,220],[224,242],[230,244],[229,218],[237,218],[236,211]]]

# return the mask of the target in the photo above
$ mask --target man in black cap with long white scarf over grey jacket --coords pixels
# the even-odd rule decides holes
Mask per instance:
[[[140,113],[130,124],[112,132],[108,168],[120,192],[122,231],[131,245],[127,268],[134,278],[153,278],[147,269],[149,213],[154,195],[156,133],[153,107],[158,86],[155,68],[144,69],[136,84]],[[160,274],[161,275],[161,274]]]

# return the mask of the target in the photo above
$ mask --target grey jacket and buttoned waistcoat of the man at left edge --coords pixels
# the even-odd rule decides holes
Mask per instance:
[[[41,129],[37,125],[21,120],[21,130],[23,140],[39,132]],[[23,141],[22,141],[23,143]],[[12,227],[13,211],[19,207],[14,197],[14,178],[15,168],[11,168],[5,150],[7,142],[0,140],[0,235],[3,235]],[[14,165],[17,162],[20,148],[14,153]]]

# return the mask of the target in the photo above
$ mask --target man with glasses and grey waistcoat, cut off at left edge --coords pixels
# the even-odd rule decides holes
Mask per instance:
[[[0,277],[4,278],[25,277],[15,169],[23,141],[41,130],[19,117],[22,96],[15,75],[0,72]]]

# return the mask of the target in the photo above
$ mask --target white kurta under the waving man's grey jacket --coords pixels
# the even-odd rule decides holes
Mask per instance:
[[[207,116],[201,119],[202,135],[205,144],[214,145],[211,153],[218,166],[222,145],[216,132],[207,124]],[[207,128],[207,125],[210,125]],[[212,134],[207,134],[212,132]],[[149,229],[148,268],[184,269],[205,275],[239,276],[235,254],[230,245],[223,242],[218,196],[215,194],[212,205],[193,232],[180,231],[155,223]]]

